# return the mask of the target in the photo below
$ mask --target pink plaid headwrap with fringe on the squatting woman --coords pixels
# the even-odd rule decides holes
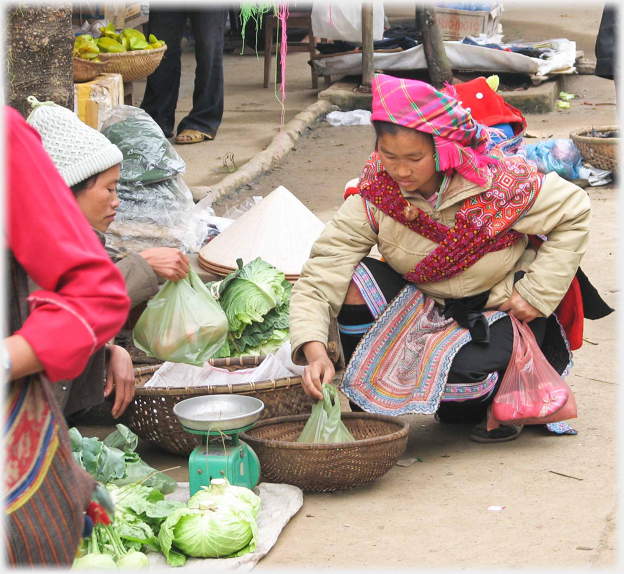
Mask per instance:
[[[447,87],[454,93],[452,86]],[[492,144],[487,127],[477,124],[451,95],[426,82],[375,74],[371,120],[431,134],[437,170],[455,169],[477,185],[485,185],[491,177],[488,164],[498,163],[486,155]]]

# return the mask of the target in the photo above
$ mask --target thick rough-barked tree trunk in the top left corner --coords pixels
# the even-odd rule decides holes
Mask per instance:
[[[6,7],[6,103],[24,117],[26,101],[74,109],[71,2],[19,2]]]

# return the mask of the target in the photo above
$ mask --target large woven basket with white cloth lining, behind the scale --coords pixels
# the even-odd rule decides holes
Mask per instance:
[[[228,371],[258,366],[264,357],[211,359],[214,367]],[[241,394],[256,397],[265,404],[260,419],[309,413],[313,399],[306,396],[301,377],[284,377],[270,381],[237,382],[229,385],[203,387],[144,387],[161,367],[153,365],[134,369],[134,401],[124,413],[124,424],[147,442],[173,454],[188,455],[200,444],[201,436],[186,432],[173,414],[178,402],[190,397],[210,394]]]

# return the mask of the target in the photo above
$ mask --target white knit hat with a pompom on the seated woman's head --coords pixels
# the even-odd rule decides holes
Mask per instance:
[[[121,163],[124,154],[106,137],[83,124],[71,110],[54,102],[27,98],[32,106],[26,120],[41,134],[46,152],[68,187]]]

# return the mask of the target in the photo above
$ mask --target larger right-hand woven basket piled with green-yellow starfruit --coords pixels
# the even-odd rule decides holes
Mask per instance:
[[[133,82],[150,75],[160,64],[167,46],[154,34],[146,38],[133,28],[116,32],[112,22],[100,28],[94,43],[99,49],[98,59],[107,64],[106,71],[121,74],[124,82]]]

